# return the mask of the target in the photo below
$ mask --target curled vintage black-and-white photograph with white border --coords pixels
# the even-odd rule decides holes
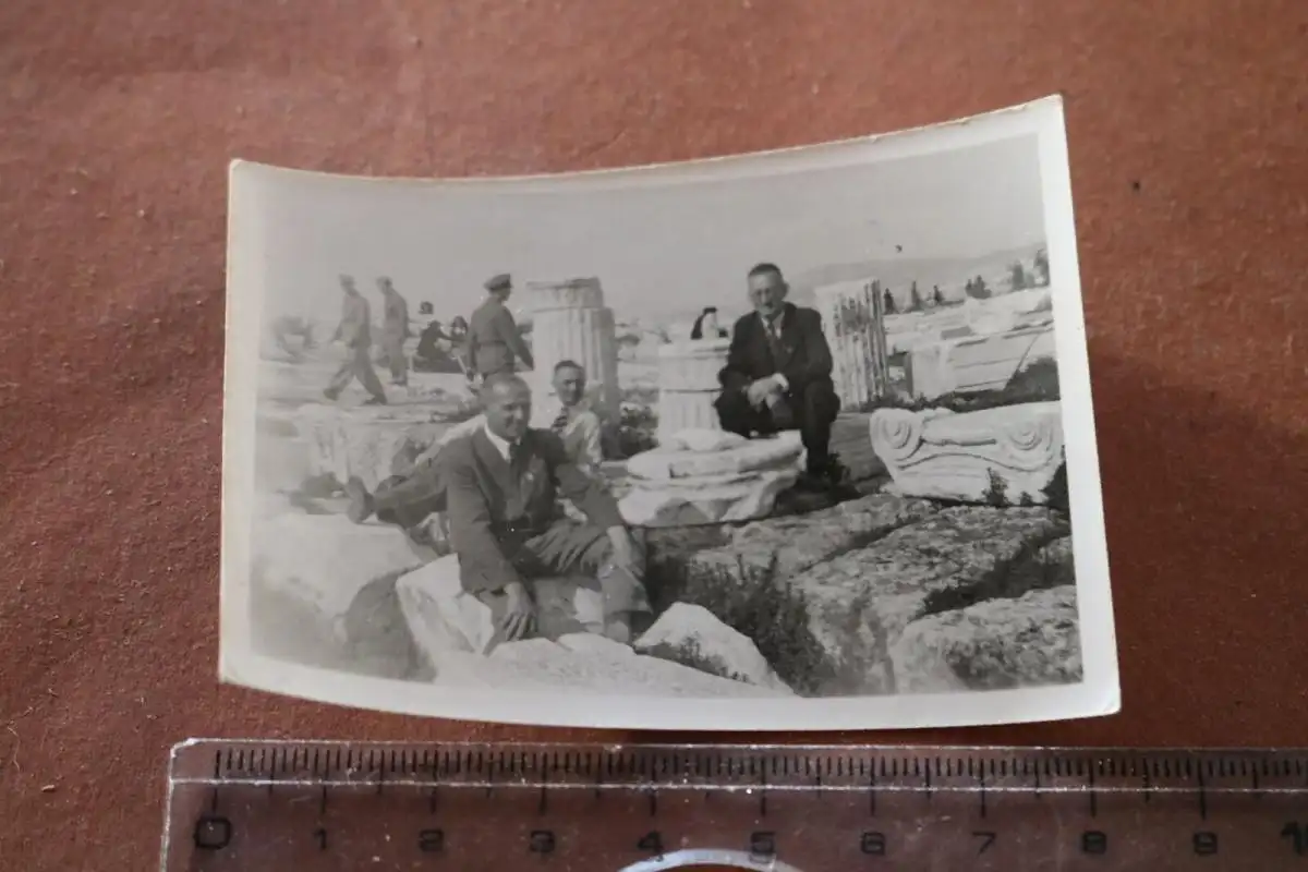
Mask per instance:
[[[1118,710],[1059,98],[230,183],[225,681],[621,728]]]

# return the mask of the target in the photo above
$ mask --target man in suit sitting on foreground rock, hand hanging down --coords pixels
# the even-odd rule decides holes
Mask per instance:
[[[650,612],[642,578],[644,556],[612,495],[572,463],[560,438],[528,426],[531,391],[513,374],[496,374],[481,387],[485,426],[445,446],[434,463],[375,495],[365,511],[402,524],[445,511],[459,556],[463,588],[490,608],[497,641],[566,631],[602,631],[627,642],[632,620]],[[560,510],[565,497],[587,522]],[[545,626],[534,583],[543,577],[578,577],[578,611],[590,618]],[[585,596],[583,596],[585,595]],[[538,618],[540,618],[538,621]],[[599,626],[596,626],[596,624]]]

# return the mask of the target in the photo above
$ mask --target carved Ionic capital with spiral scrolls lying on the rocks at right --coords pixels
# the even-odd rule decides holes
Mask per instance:
[[[964,413],[878,409],[869,430],[895,489],[913,497],[1040,505],[1063,463],[1058,401]]]

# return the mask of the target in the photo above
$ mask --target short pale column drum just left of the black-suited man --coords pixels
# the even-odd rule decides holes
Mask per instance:
[[[658,431],[667,442],[679,430],[721,430],[713,401],[722,386],[729,339],[672,343],[658,349]]]

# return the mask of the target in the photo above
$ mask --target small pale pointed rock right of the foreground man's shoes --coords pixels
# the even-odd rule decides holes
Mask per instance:
[[[641,654],[701,672],[789,692],[749,637],[732,630],[701,605],[675,603],[636,641]]]

